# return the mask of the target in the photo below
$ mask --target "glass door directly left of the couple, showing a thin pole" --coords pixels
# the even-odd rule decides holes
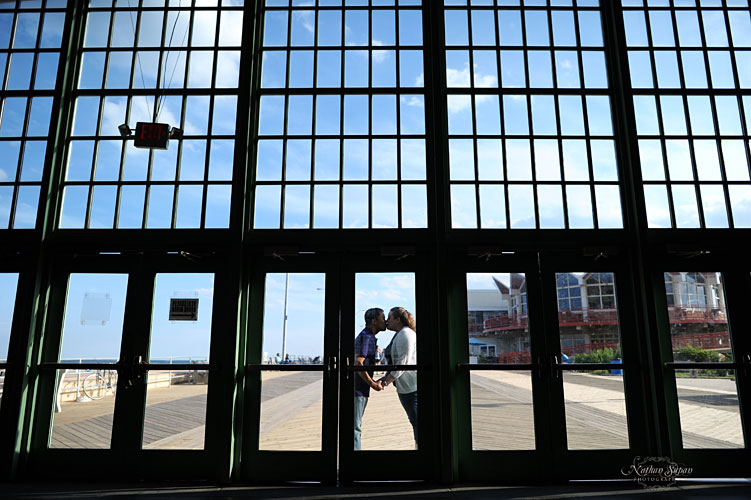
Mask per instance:
[[[337,479],[338,265],[304,259],[253,271],[243,455],[253,481]]]

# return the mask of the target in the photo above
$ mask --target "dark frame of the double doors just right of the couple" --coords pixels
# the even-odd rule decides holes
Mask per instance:
[[[612,251],[612,250],[611,250]],[[454,352],[452,368],[457,376],[452,384],[452,407],[457,429],[455,442],[460,480],[539,480],[545,466],[546,480],[621,479],[621,468],[631,464],[633,457],[650,450],[650,431],[645,391],[645,378],[640,359],[643,353],[642,330],[634,310],[633,276],[628,259],[617,252],[592,256],[552,252],[508,252],[508,254],[467,256],[458,258],[454,269],[455,292],[451,296],[451,342]],[[616,450],[568,450],[561,371],[572,369],[559,363],[561,348],[558,330],[556,272],[602,271],[616,275],[621,347],[626,363],[624,394],[629,425],[629,448]],[[466,274],[473,272],[524,272],[527,281],[530,353],[528,364],[506,367],[470,366],[467,363],[467,287]],[[537,332],[536,334],[533,332]],[[626,335],[626,332],[633,332]],[[470,370],[530,370],[535,415],[535,450],[472,450]]]

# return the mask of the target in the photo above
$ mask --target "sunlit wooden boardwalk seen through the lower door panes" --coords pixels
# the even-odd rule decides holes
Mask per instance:
[[[260,449],[320,450],[322,374],[264,372]],[[687,448],[743,446],[738,398],[732,391],[686,386],[679,381],[679,409]],[[696,382],[693,382],[696,384]],[[145,449],[202,449],[206,385],[150,389]],[[628,447],[620,376],[564,375],[570,449]],[[483,371],[471,376],[472,446],[478,450],[533,450],[534,414],[528,372]],[[108,448],[114,398],[63,403],[56,413],[53,448]],[[371,393],[363,417],[363,450],[414,449],[412,426],[393,387]]]

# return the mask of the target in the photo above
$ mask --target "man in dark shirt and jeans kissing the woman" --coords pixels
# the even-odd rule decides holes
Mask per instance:
[[[383,309],[377,307],[365,311],[365,328],[355,339],[355,364],[357,366],[371,366],[376,364],[375,356],[378,350],[376,335],[386,330],[386,318]],[[373,370],[357,372],[355,377],[355,449],[362,449],[362,416],[368,404],[370,389],[383,390],[380,382],[373,380]]]

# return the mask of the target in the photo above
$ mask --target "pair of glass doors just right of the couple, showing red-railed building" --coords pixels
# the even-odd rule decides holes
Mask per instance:
[[[632,437],[642,429],[640,378],[633,319],[618,309],[621,277],[619,266],[537,255],[457,276],[466,283],[463,329],[454,323],[462,479],[539,478],[541,464],[550,479],[619,478],[644,449]]]

